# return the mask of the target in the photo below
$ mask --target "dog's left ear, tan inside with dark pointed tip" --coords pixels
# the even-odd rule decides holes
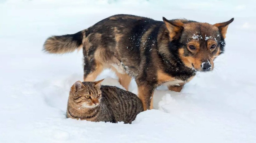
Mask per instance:
[[[169,31],[170,40],[172,41],[174,37],[181,32],[181,30],[184,28],[183,23],[180,20],[167,20],[165,17],[163,17],[163,20],[165,22],[166,28]]]

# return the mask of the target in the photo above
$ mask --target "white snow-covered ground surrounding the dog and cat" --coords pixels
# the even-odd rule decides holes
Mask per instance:
[[[1,143],[255,143],[256,1],[1,0]],[[82,80],[82,52],[49,55],[50,35],[73,34],[114,14],[211,24],[232,17],[226,52],[215,70],[199,73],[180,92],[159,87],[154,109],[132,124],[66,119],[71,85]],[[121,87],[110,70],[97,79]],[[122,87],[121,87],[122,88]],[[136,83],[130,91],[137,93]]]

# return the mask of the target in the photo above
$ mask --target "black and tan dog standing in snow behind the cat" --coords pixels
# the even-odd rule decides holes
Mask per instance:
[[[84,81],[94,81],[105,68],[116,72],[126,90],[135,78],[146,110],[153,108],[157,86],[165,83],[180,92],[197,71],[213,70],[213,60],[224,52],[224,38],[233,20],[211,25],[115,15],[76,34],[52,36],[44,50],[63,54],[82,47]]]

